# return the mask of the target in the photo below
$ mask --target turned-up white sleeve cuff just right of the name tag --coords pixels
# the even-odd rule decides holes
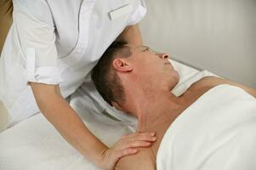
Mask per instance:
[[[135,1],[137,4],[139,3],[139,5],[136,5],[135,10],[130,15],[130,18],[128,19],[128,26],[132,26],[139,23],[139,21],[142,20],[146,14],[145,0],[135,0]]]

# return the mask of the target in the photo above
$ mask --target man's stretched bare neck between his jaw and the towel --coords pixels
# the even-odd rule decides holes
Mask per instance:
[[[156,130],[159,123],[166,122],[170,124],[174,122],[174,119],[183,110],[184,105],[184,100],[176,97],[171,92],[158,93],[141,101],[137,100],[136,115],[139,122],[137,131],[153,131]]]

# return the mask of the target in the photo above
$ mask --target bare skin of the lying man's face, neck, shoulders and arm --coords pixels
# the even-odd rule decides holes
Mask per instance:
[[[209,89],[230,84],[256,98],[255,89],[219,77],[204,77],[176,97],[171,89],[179,82],[179,75],[169,63],[168,55],[156,54],[141,46],[130,47],[133,52],[130,57],[117,58],[112,63],[125,93],[122,103],[112,105],[137,116],[137,131],[155,131],[157,141],[149,148],[140,148],[137,155],[123,157],[117,163],[117,170],[156,169],[156,154],[164,133],[177,116]]]

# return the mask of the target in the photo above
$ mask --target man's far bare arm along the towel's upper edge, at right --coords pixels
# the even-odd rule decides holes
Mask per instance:
[[[242,88],[244,91],[246,91],[248,94],[251,94],[254,98],[256,98],[256,89],[249,88],[243,84],[240,84],[238,82],[232,82],[230,80],[219,78],[219,77],[203,77],[200,80],[200,83],[207,83],[210,86],[217,86],[219,84],[230,84],[232,86],[236,86],[238,88]]]

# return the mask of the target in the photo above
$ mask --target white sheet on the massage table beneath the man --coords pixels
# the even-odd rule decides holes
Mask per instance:
[[[194,82],[196,82],[199,77],[212,75],[206,71],[196,71],[186,65],[172,62],[179,71],[181,78],[176,87],[176,89],[179,88],[176,90],[178,94],[189,87],[189,84],[193,82],[193,77]],[[78,89],[71,96],[71,107],[77,111],[88,128],[105,144],[111,146],[117,142],[122,134],[134,131],[136,127],[134,117],[123,114],[116,117],[122,122],[114,121],[100,114],[104,110],[98,106],[99,100],[96,101],[85,93],[88,93],[88,90]],[[85,101],[86,103],[84,103]],[[94,105],[94,107],[91,106],[91,110],[87,111],[88,105]],[[116,116],[117,112],[114,113],[111,112],[110,114]],[[67,144],[42,114],[31,116],[26,121],[0,133],[0,150],[0,169],[4,170],[99,169]]]

